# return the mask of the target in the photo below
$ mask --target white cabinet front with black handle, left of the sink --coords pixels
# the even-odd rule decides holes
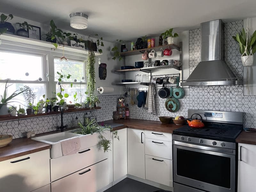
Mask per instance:
[[[50,183],[50,149],[2,161],[0,169],[0,191],[33,191]]]

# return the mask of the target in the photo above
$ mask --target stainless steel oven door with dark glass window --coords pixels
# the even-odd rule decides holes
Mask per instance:
[[[174,182],[210,192],[235,191],[235,150],[173,144]]]

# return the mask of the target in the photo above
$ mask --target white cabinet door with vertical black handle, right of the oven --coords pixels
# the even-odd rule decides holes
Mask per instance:
[[[256,190],[255,178],[256,178],[256,145],[238,143],[237,192],[245,192],[245,191],[255,192]]]

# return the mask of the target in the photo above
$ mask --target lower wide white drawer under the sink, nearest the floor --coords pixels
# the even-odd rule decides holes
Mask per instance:
[[[106,159],[56,180],[51,183],[52,192],[96,192],[109,184],[108,165]]]

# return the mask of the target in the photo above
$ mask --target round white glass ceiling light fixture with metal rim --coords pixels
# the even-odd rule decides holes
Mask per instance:
[[[71,13],[70,26],[75,29],[86,29],[88,26],[88,15],[84,13]]]

